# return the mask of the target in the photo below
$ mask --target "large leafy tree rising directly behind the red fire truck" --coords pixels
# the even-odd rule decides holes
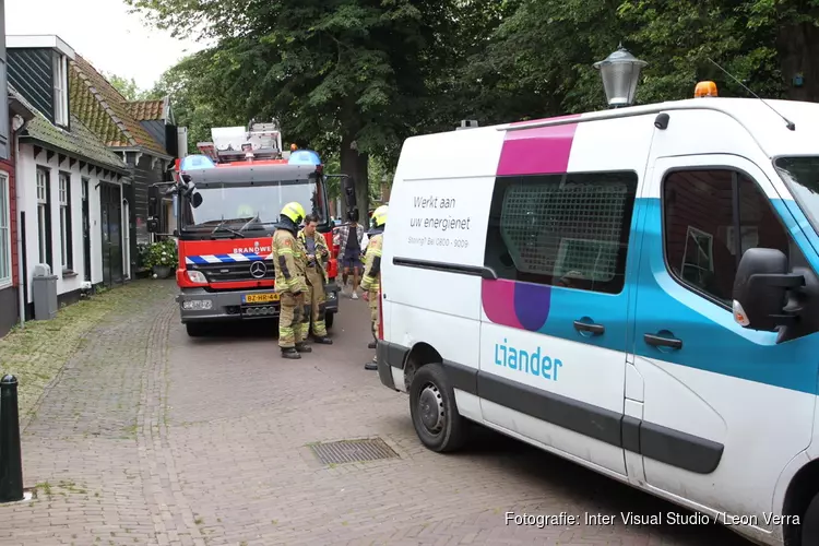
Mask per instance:
[[[217,45],[199,67],[209,104],[247,119],[278,118],[299,144],[339,150],[368,203],[368,161],[394,156],[428,108],[435,61],[458,2],[436,0],[128,0],[176,35]],[[467,2],[468,3],[468,2]],[[206,67],[206,69],[205,69]],[[190,72],[190,71],[189,71]]]

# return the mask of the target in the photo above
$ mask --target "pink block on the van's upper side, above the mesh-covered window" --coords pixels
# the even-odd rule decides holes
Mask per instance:
[[[563,116],[562,118],[579,118]],[[553,118],[561,119],[561,118]],[[532,121],[529,121],[532,123]],[[566,173],[577,123],[507,131],[498,176]]]

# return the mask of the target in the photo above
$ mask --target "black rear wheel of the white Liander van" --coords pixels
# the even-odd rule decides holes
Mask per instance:
[[[439,453],[456,451],[466,440],[466,419],[440,364],[422,366],[410,385],[410,414],[418,439]]]

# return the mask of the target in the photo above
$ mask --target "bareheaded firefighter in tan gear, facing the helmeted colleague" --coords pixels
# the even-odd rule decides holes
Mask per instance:
[[[324,324],[324,307],[327,295],[324,284],[327,277],[327,264],[330,262],[330,249],[327,247],[324,236],[316,232],[319,223],[318,216],[308,214],[305,217],[305,227],[298,233],[300,251],[307,257],[307,292],[305,293],[305,310],[301,318],[301,339],[307,340],[310,335],[310,319],[312,319],[312,339],[316,343],[332,345],[333,340],[327,336]]]

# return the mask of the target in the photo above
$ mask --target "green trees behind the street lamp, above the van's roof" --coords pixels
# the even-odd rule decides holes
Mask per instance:
[[[605,108],[592,64],[622,44],[649,61],[639,103],[691,97],[702,80],[749,96],[722,69],[761,96],[819,100],[817,23],[819,0],[521,0],[464,81],[488,83],[478,103],[507,121]]]

